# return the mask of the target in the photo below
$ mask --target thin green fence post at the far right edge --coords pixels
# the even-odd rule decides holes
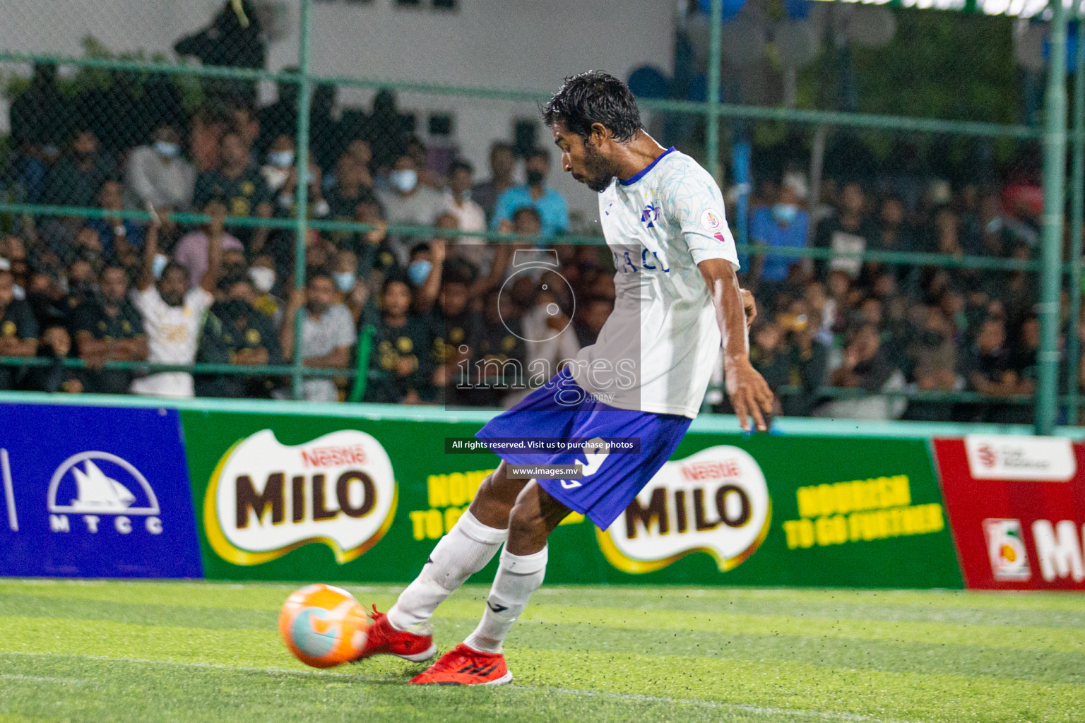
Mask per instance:
[[[1082,223],[1085,215],[1085,38],[1077,16],[1077,63],[1074,68],[1073,169],[1070,177],[1070,330],[1067,336],[1067,424],[1077,424],[1077,373],[1081,344],[1077,325],[1082,315]]]

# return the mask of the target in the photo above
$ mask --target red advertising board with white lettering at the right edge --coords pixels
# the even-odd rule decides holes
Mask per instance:
[[[1085,591],[1085,446],[969,435],[934,453],[968,588]]]

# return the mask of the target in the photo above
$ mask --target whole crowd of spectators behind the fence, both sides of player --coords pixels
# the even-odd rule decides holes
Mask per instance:
[[[315,92],[306,212],[370,230],[310,230],[296,289],[294,230],[259,222],[296,214],[297,94],[293,83],[278,90],[265,107],[242,93],[190,116],[164,91],[144,89],[153,107],[125,102],[120,82],[107,96],[63,95],[54,69],[36,67],[11,105],[5,183],[28,203],[102,212],[24,215],[0,236],[0,357],[46,360],[0,365],[0,389],[283,397],[290,379],[258,369],[193,377],[102,366],[276,366],[296,349],[305,366],[324,370],[305,382],[309,400],[501,405],[523,395],[490,384],[509,376],[508,362],[527,370],[545,361],[553,371],[593,343],[613,308],[613,266],[598,246],[560,243],[570,218],[547,184],[554,157],[498,141],[480,179],[471,164],[431,153],[387,91],[368,114],[333,114],[334,88]],[[910,198],[825,182],[816,204],[806,185],[800,173],[762,184],[750,240],[831,254],[742,259],[741,279],[761,309],[751,354],[780,392],[778,413],[1027,422],[1031,406],[1010,398],[1035,386],[1030,273],[840,255],[1030,259],[1035,211],[1008,208],[999,189],[954,193],[944,182]],[[156,220],[111,215],[124,209],[153,209]],[[181,223],[176,215],[184,212],[209,221]],[[388,232],[403,224],[433,230]],[[514,254],[527,246],[471,235],[487,230],[536,235],[556,249],[556,266],[516,276]],[[85,366],[65,365],[68,357]],[[909,402],[893,393],[908,390],[988,399]]]

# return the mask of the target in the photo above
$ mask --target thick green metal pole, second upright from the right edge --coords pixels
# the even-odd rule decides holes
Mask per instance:
[[[1059,288],[1062,273],[1062,205],[1067,180],[1067,9],[1061,0],[1052,10],[1044,104],[1044,235],[1041,249],[1039,353],[1035,432],[1055,428],[1059,382]]]

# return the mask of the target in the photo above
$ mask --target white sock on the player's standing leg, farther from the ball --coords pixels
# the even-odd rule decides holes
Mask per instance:
[[[464,642],[468,647],[486,653],[500,653],[501,642],[520,614],[527,607],[532,593],[542,584],[546,574],[547,548],[534,555],[513,555],[506,548],[486,598],[486,611],[475,631]]]

